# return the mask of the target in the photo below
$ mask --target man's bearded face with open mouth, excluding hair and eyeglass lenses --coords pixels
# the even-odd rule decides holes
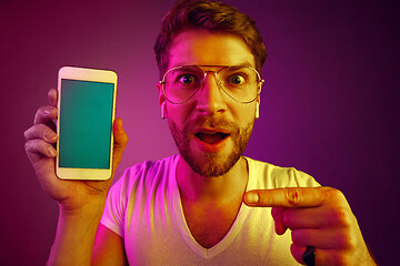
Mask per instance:
[[[188,30],[177,35],[169,50],[169,69],[180,65],[240,65],[254,68],[254,58],[237,35]],[[221,68],[207,66],[218,71]],[[188,102],[166,102],[166,116],[178,150],[190,167],[202,176],[229,172],[243,154],[250,139],[256,104],[232,100],[209,73],[203,86]]]

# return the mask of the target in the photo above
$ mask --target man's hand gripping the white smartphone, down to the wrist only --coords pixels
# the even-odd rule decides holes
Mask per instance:
[[[41,106],[37,111],[33,125],[24,132],[26,152],[43,190],[67,211],[78,211],[83,205],[106,201],[107,192],[112,177],[108,181],[66,181],[56,176],[54,144],[58,135],[56,132],[57,90],[48,93],[50,105]],[[113,172],[121,161],[122,152],[128,142],[128,136],[122,127],[122,121],[116,119],[113,124],[114,149]]]

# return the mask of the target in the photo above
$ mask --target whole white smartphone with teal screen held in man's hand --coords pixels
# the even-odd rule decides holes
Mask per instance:
[[[58,177],[111,177],[116,95],[117,74],[113,71],[74,66],[59,70]]]

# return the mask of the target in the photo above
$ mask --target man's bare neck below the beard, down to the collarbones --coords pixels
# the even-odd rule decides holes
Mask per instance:
[[[177,167],[181,197],[190,202],[228,203],[243,195],[248,177],[249,171],[244,157],[240,157],[228,173],[216,177],[201,176],[182,157]]]

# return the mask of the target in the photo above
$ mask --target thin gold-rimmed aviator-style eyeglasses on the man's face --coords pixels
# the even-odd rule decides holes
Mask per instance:
[[[218,71],[206,71],[202,68],[221,68]],[[162,92],[166,99],[174,104],[189,101],[203,86],[208,73],[213,73],[217,84],[231,99],[240,103],[253,102],[261,91],[259,72],[250,66],[234,65],[181,65],[166,72]]]

